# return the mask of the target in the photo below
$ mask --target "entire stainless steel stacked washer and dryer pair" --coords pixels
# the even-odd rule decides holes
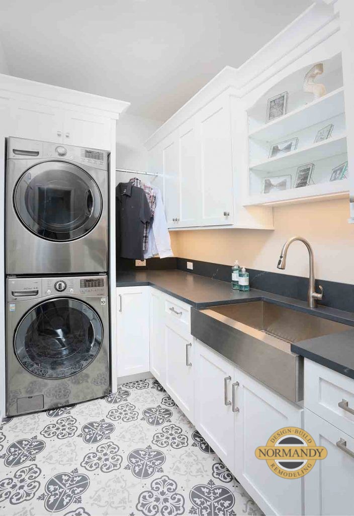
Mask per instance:
[[[109,392],[108,154],[7,139],[8,416]]]

